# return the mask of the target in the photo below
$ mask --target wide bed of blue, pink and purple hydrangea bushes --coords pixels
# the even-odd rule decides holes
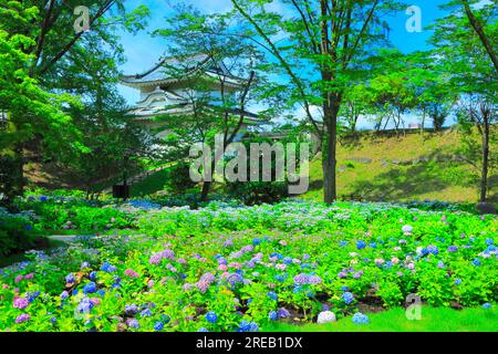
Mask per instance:
[[[495,216],[387,204],[151,209],[138,230],[81,238],[0,271],[1,331],[258,331],[417,293],[498,298]],[[123,233],[123,231],[121,231]],[[330,315],[332,316],[332,315]]]

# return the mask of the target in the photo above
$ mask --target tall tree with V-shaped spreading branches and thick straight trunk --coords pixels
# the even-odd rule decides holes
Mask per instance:
[[[356,82],[369,52],[384,43],[383,15],[398,9],[395,1],[278,1],[289,14],[269,10],[277,1],[232,0],[248,24],[241,35],[258,42],[271,56],[268,69],[284,74],[290,106],[303,107],[322,145],[324,201],[336,198],[338,117],[345,87]],[[242,23],[242,21],[241,21]],[[242,25],[242,24],[241,24]],[[282,88],[282,84],[277,84]],[[320,107],[320,124],[313,107]]]

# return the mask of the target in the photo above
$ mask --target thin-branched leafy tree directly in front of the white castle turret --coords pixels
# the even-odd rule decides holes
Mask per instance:
[[[165,69],[170,76],[187,81],[189,90],[183,92],[183,102],[184,107],[190,110],[184,114],[165,114],[158,119],[164,122],[162,129],[172,133],[165,140],[168,159],[185,162],[194,143],[212,146],[215,135],[221,134],[225,150],[245,133],[247,119],[255,118],[247,107],[255,101],[255,90],[264,79],[256,79],[261,54],[253,44],[239,37],[212,35],[230,25],[229,17],[203,14],[185,6],[177,6],[175,10],[175,15],[167,18],[168,27],[156,34],[167,40],[168,52],[177,59],[175,65],[165,65]],[[214,65],[211,76],[204,70],[195,70],[196,65],[205,65],[193,62],[199,54]],[[211,170],[220,159],[221,156],[214,156]],[[203,183],[201,200],[207,199],[211,185],[211,180]]]

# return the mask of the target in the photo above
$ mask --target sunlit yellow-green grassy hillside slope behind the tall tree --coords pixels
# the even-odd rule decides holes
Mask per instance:
[[[478,199],[478,183],[469,164],[456,148],[455,129],[440,133],[409,133],[406,136],[365,134],[338,147],[338,195],[365,200]],[[491,147],[496,152],[496,146]],[[321,200],[323,177],[320,154],[310,164],[310,191],[305,199]],[[491,171],[490,199],[498,199],[498,174]]]

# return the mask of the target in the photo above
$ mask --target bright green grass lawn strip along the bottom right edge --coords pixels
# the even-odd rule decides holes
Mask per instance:
[[[498,332],[498,306],[491,309],[453,310],[422,309],[422,320],[406,319],[405,309],[397,308],[369,314],[370,324],[355,324],[352,316],[328,324],[290,324],[276,322],[263,327],[268,332]]]

